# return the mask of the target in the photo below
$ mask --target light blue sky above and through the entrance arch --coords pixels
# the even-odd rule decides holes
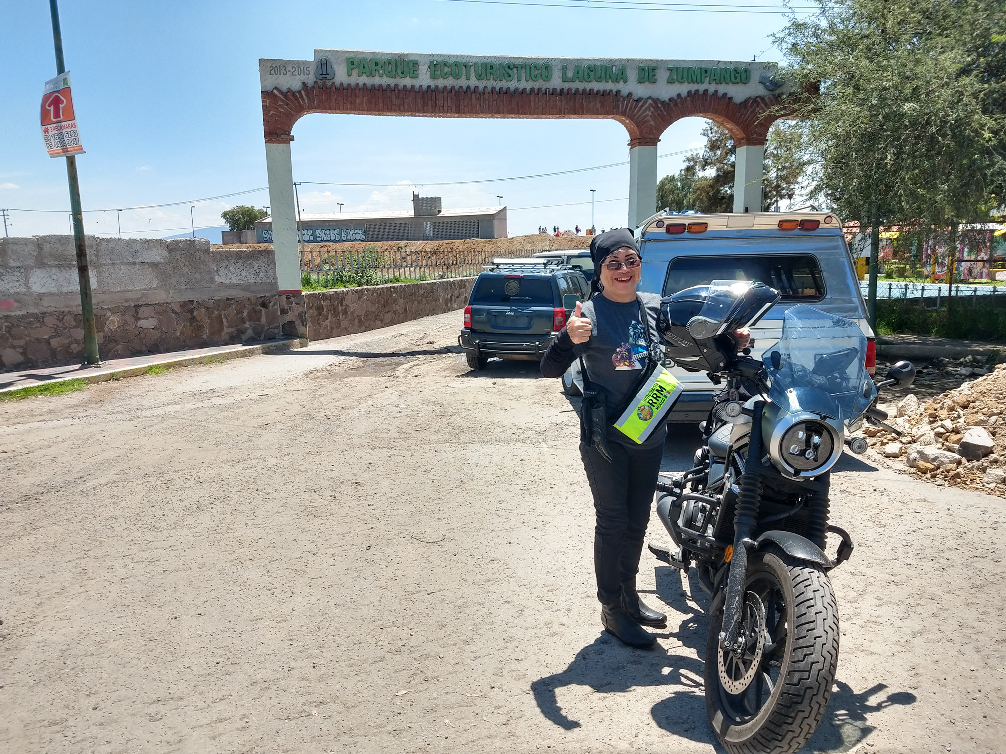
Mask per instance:
[[[77,158],[85,210],[135,207],[267,185],[259,58],[310,59],[316,47],[459,54],[780,59],[770,35],[780,14],[599,10],[577,0],[512,0],[561,7],[342,0],[297,3],[61,0],[63,46],[87,154]],[[657,0],[667,3],[670,0]],[[720,0],[778,8],[777,0]],[[4,4],[0,45],[0,207],[11,235],[69,232],[65,161],[42,145],[42,84],[55,75],[48,3]],[[702,121],[674,124],[661,154],[701,145]],[[304,211],[410,207],[407,182],[462,181],[569,170],[628,160],[614,121],[513,121],[312,115],[295,127],[294,176],[387,183],[386,188],[303,186]],[[660,160],[660,175],[681,157]],[[626,223],[628,166],[547,179],[424,187],[445,207],[503,203],[512,234],[538,225]],[[198,202],[196,227],[222,224],[234,204],[268,192]],[[575,206],[543,207],[574,204]],[[121,213],[124,235],[160,237],[189,227],[189,204]],[[118,233],[117,213],[86,213],[89,233]]]

